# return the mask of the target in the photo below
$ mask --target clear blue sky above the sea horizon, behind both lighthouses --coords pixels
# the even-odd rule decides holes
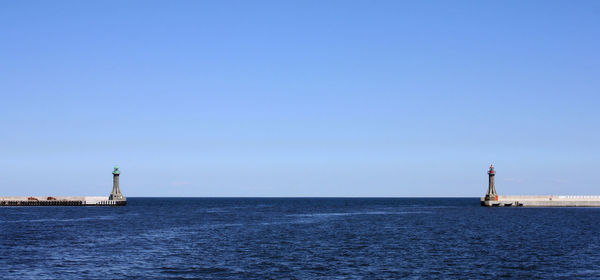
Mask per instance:
[[[599,1],[2,1],[0,192],[600,194]]]

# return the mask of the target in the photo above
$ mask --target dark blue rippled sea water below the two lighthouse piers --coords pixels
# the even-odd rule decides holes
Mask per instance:
[[[0,278],[600,278],[600,208],[477,198],[0,207]]]

